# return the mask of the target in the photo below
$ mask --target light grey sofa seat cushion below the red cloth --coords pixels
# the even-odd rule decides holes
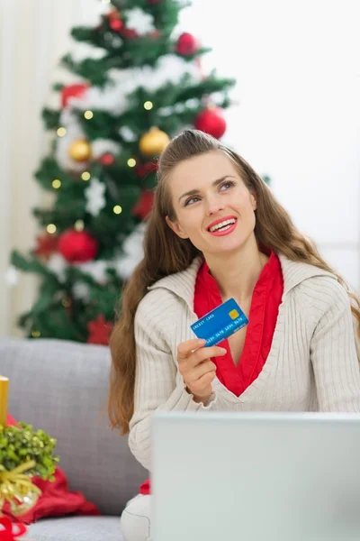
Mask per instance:
[[[31,524],[26,537],[36,541],[123,541],[120,518],[43,518]]]

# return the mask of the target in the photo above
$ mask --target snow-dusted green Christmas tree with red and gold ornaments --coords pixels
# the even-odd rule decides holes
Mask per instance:
[[[43,109],[50,133],[36,180],[53,193],[33,210],[40,234],[12,269],[40,277],[37,300],[19,318],[26,335],[107,344],[121,286],[141,259],[156,185],[157,156],[193,126],[220,138],[235,81],[204,74],[202,47],[177,32],[189,3],[103,0],[95,27],[76,27],[91,58],[67,54],[72,84],[57,82],[58,108]]]

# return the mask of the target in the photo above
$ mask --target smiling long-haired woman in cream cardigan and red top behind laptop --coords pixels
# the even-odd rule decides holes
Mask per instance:
[[[360,303],[238,154],[175,137],[144,248],[112,333],[109,414],[145,468],[158,410],[360,411]],[[190,326],[228,298],[249,324],[204,347]],[[149,493],[122,514],[126,541],[150,536]]]

